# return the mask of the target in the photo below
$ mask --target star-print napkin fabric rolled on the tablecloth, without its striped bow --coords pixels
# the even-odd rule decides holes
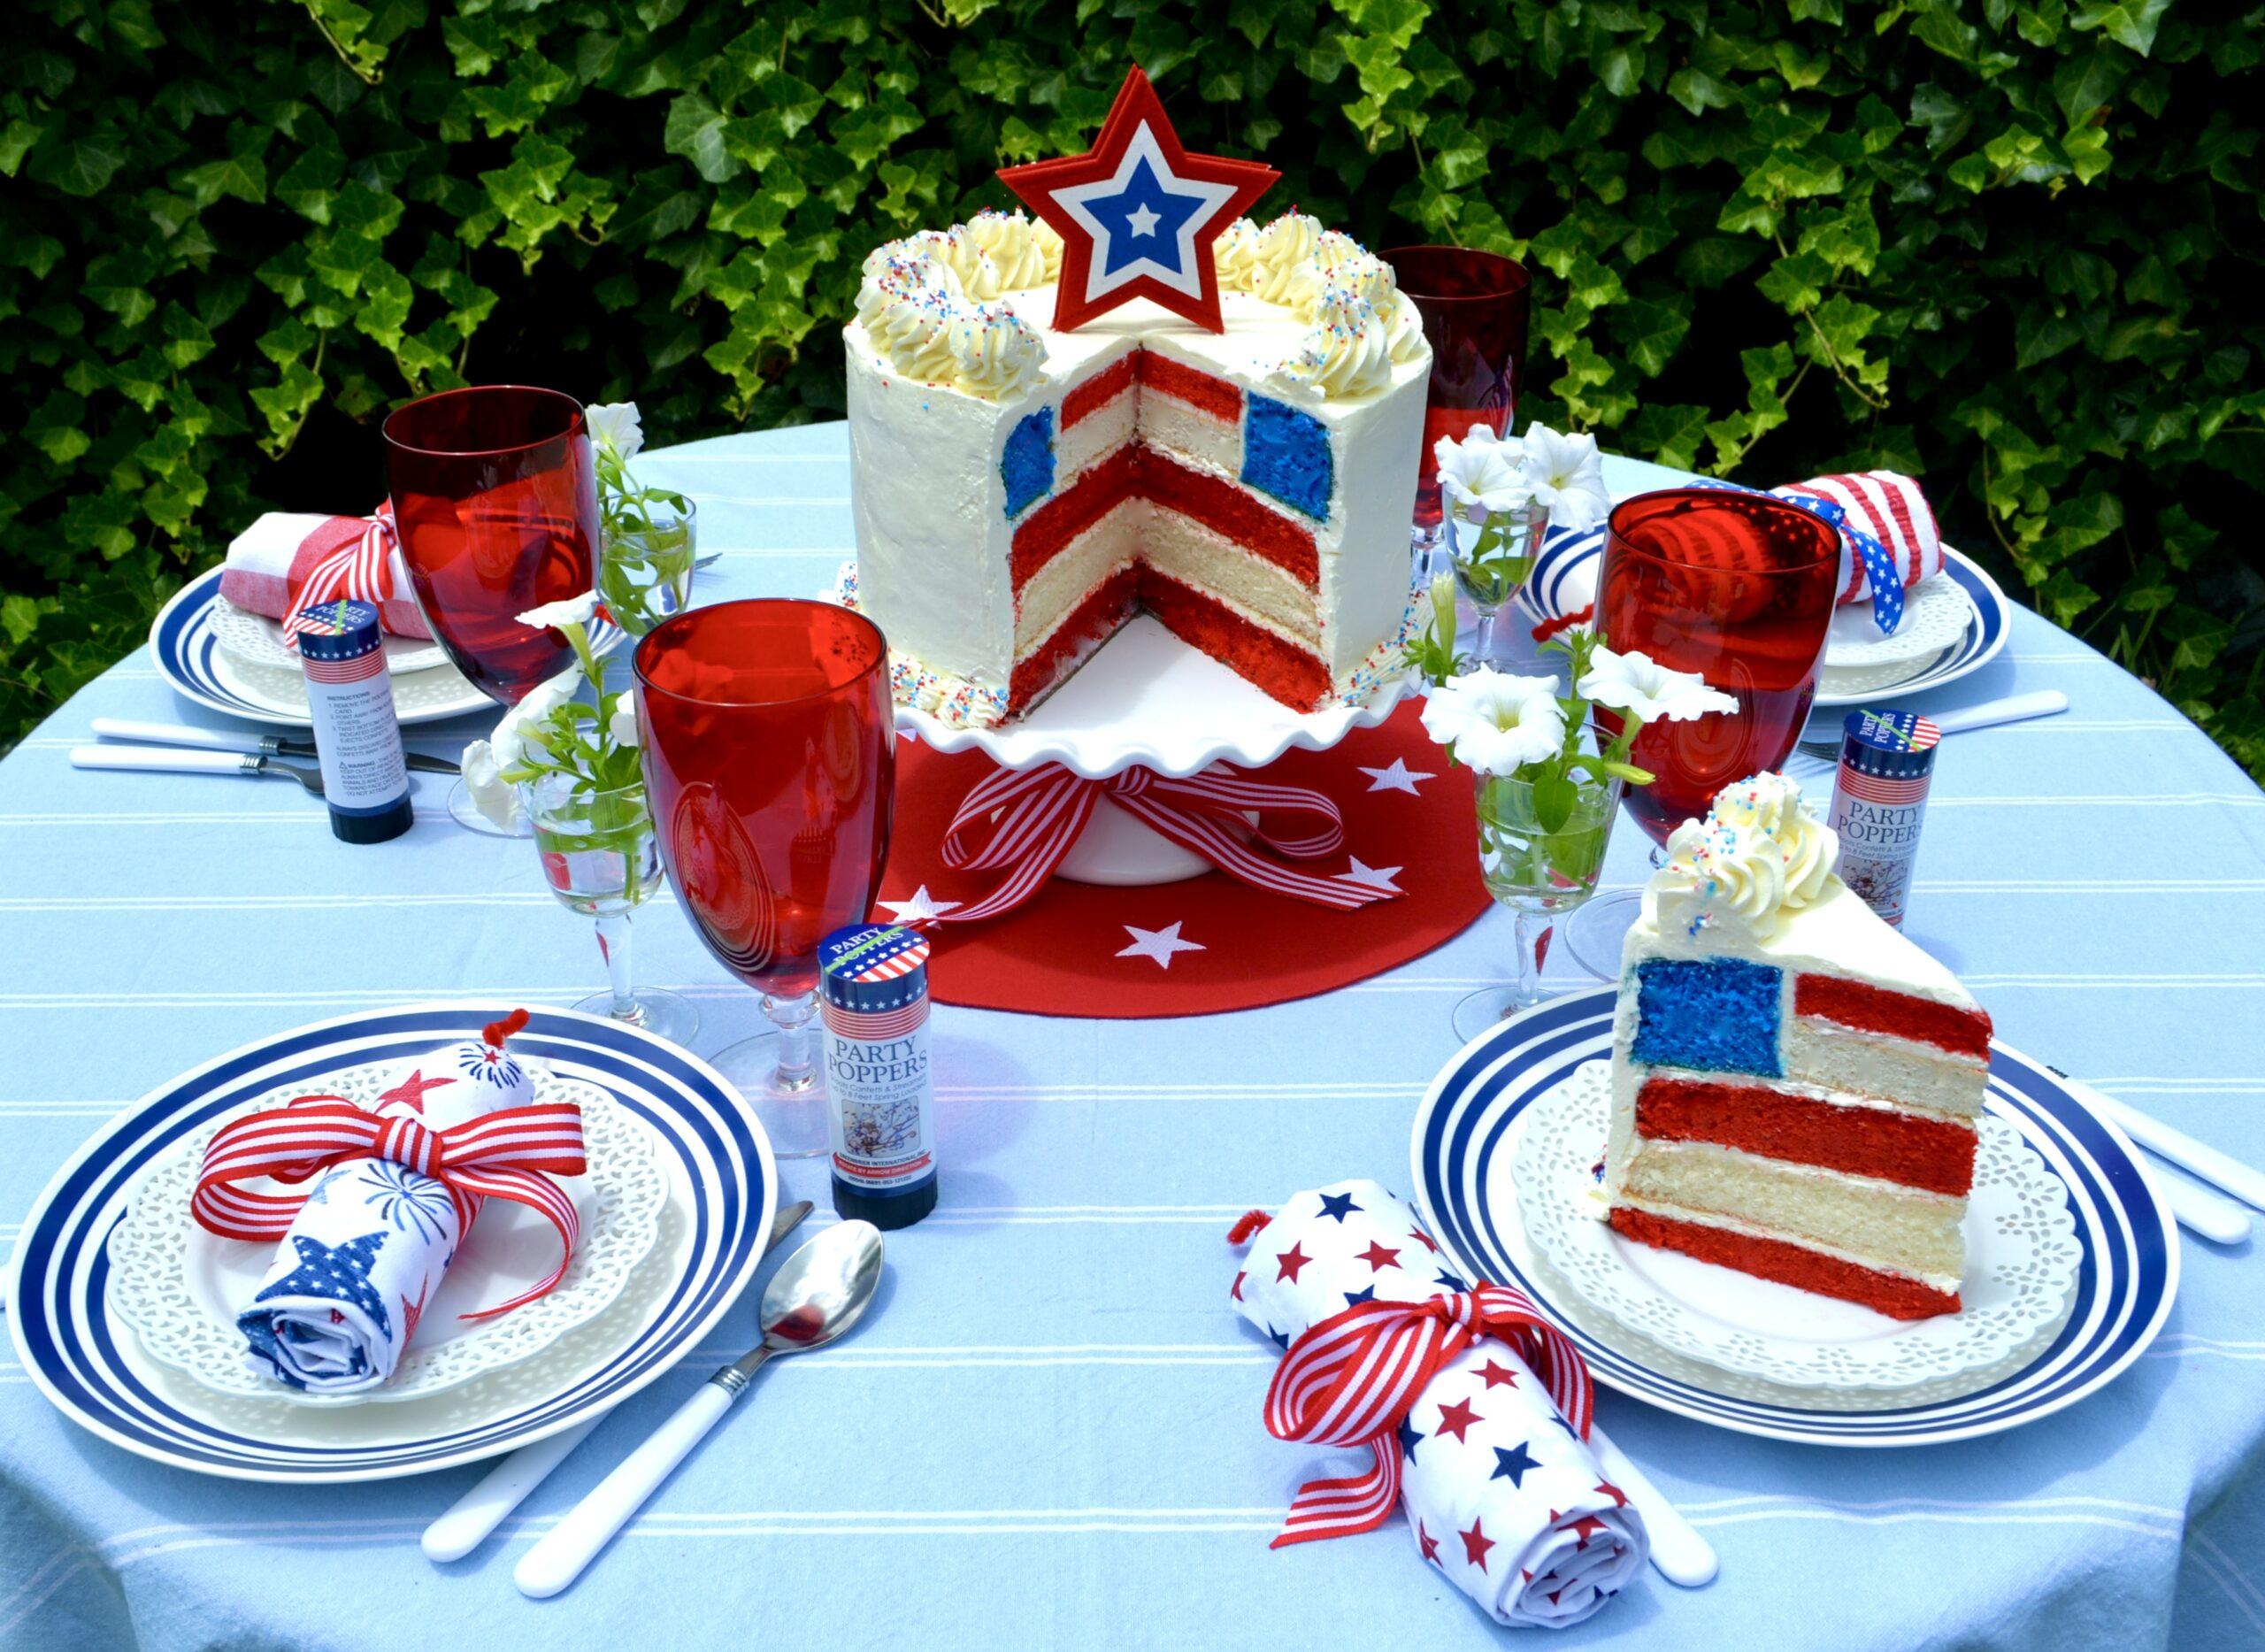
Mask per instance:
[[[1289,1351],[1352,1303],[1470,1289],[1411,1206],[1373,1181],[1343,1181],[1293,1197],[1257,1231],[1230,1296]],[[1644,1568],[1642,1518],[1542,1378],[1497,1337],[1431,1376],[1395,1450],[1400,1507],[1422,1561],[1495,1623],[1581,1623]]]

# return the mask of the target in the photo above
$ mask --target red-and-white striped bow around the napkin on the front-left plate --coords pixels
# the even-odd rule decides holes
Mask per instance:
[[[188,1208],[197,1226],[224,1240],[281,1240],[306,1194],[263,1194],[236,1183],[260,1176],[308,1181],[349,1158],[385,1158],[444,1185],[455,1206],[458,1233],[471,1228],[487,1199],[528,1206],[557,1228],[559,1264],[550,1278],[464,1319],[507,1314],[550,1294],[566,1276],[582,1221],[573,1199],[550,1178],[589,1169],[582,1156],[582,1108],[571,1101],[503,1108],[433,1131],[405,1113],[367,1113],[344,1097],[301,1097],[222,1126],[204,1149]]]

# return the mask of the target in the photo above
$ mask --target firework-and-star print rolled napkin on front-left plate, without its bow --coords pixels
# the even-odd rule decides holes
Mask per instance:
[[[535,1081],[498,1042],[403,1061],[371,1113],[430,1131],[535,1106]],[[392,1378],[455,1260],[478,1201],[385,1158],[333,1165],[308,1190],[267,1276],[236,1317],[247,1362],[308,1394],[362,1394]]]

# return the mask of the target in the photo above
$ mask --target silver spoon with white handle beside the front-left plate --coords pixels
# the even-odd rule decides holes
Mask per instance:
[[[881,1231],[870,1221],[827,1228],[779,1264],[763,1289],[763,1342],[727,1364],[621,1459],[512,1570],[519,1593],[555,1595],[625,1527],[693,1446],[732,1410],[775,1353],[809,1353],[849,1330],[881,1285]]]

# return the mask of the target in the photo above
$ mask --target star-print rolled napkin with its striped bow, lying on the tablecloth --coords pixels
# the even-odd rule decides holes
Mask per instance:
[[[1230,1237],[1250,1251],[1228,1294],[1287,1351],[1268,1432],[1375,1450],[1364,1475],[1307,1482],[1275,1548],[1375,1530],[1398,1500],[1422,1559],[1486,1616],[1552,1629],[1644,1568],[1644,1523],[1588,1448],[1588,1369],[1522,1294],[1456,1278],[1373,1181],[1296,1194]]]

